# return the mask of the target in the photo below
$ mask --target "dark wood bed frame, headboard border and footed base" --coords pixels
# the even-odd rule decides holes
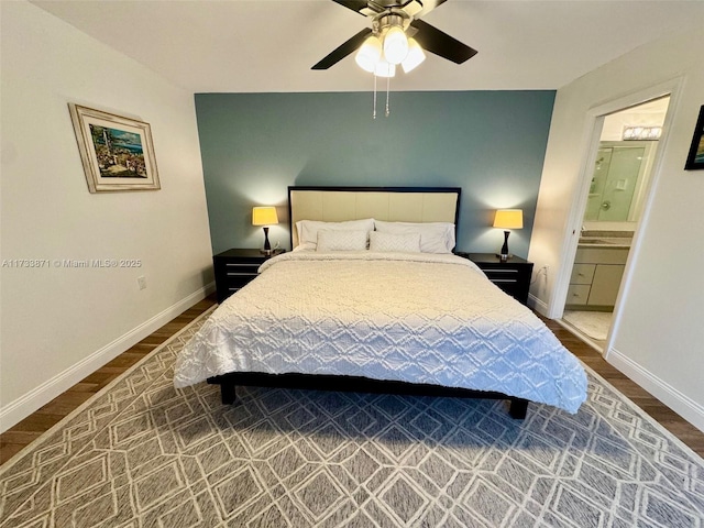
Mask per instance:
[[[455,230],[460,213],[459,187],[289,187],[288,219],[290,224],[292,190],[330,190],[330,191],[388,191],[388,193],[457,193],[458,202],[454,215]],[[293,227],[292,227],[293,229]],[[321,375],[321,374],[266,374],[261,372],[233,372],[208,378],[208,383],[220,385],[222,403],[234,404],[238,385],[255,387],[299,388],[309,391],[338,391],[355,393],[399,394],[415,396],[440,396],[482,399],[505,399],[509,402],[508,414],[512,418],[524,419],[528,410],[528,400],[503,393],[471,391],[466,388],[444,387],[441,385],[418,384],[408,382],[381,381],[360,376]]]

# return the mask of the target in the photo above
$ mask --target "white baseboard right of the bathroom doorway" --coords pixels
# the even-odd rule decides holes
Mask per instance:
[[[663,382],[658,376],[653,375],[614,348],[609,349],[606,360],[686,421],[696,427],[700,431],[704,432],[703,406]]]

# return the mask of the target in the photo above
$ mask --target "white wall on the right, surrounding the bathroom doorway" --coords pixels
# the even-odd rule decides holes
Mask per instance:
[[[701,50],[702,32],[671,36],[558,90],[529,258],[536,270],[549,266],[548,280],[531,288],[532,302],[559,317],[564,298],[556,295],[556,278],[570,273],[574,228],[579,235],[573,208],[584,190],[581,168],[594,124],[590,112],[653,87],[675,87],[650,213],[629,257],[631,280],[622,289],[606,359],[704,430],[704,221],[693,220],[704,202],[704,172],[683,169],[704,105]]]

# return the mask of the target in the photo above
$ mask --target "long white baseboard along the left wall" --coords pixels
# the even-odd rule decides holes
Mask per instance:
[[[165,310],[133,328],[111,343],[108,343],[100,350],[91,353],[78,363],[66,369],[61,374],[43,383],[24,396],[2,406],[0,409],[0,432],[7,431],[43,405],[46,405],[58,395],[65,393],[82,378],[96,372],[102,365],[130,349],[130,346],[139,343],[199,300],[205,299],[212,292],[215,292],[215,283],[210,283],[196,290],[188,297],[169,306]]]

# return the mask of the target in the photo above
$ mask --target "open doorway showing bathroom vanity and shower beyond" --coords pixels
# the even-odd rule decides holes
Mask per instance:
[[[562,322],[604,353],[670,96],[603,116]]]

